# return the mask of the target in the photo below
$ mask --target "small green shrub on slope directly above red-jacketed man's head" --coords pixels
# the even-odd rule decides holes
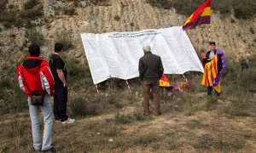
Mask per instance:
[[[36,43],[38,45],[44,44],[44,36],[35,29],[27,30],[25,37],[30,43]]]

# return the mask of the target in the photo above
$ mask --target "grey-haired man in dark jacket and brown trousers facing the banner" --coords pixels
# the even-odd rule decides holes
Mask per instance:
[[[138,71],[140,80],[143,82],[143,109],[144,115],[148,116],[150,88],[153,94],[154,115],[160,115],[159,80],[163,75],[164,68],[160,56],[152,54],[150,46],[143,47],[144,56],[139,60]]]

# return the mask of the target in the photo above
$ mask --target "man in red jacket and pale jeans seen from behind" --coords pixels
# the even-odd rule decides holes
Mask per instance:
[[[53,113],[50,107],[50,96],[54,94],[55,82],[49,69],[49,64],[39,58],[40,48],[37,44],[31,44],[28,48],[30,56],[24,60],[17,71],[20,88],[27,95],[29,114],[32,122],[32,138],[35,150],[54,151],[51,142],[51,131],[53,125]],[[43,105],[32,105],[32,93],[44,94]],[[39,107],[44,116],[44,138],[40,139],[39,129]]]

